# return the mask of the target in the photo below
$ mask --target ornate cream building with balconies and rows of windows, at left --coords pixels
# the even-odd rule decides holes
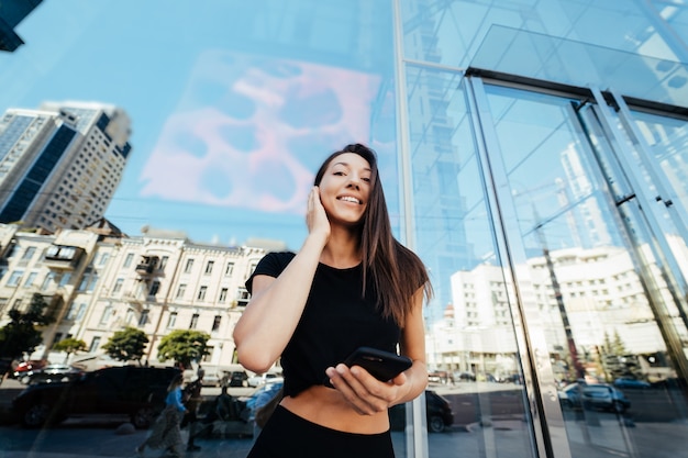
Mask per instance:
[[[36,356],[60,360],[49,346],[67,337],[100,354],[115,331],[134,326],[151,339],[151,364],[173,329],[210,334],[207,364],[232,362],[232,329],[248,300],[244,281],[265,254],[262,247],[199,245],[173,232],[127,237],[107,220],[56,235],[0,224],[0,326],[34,293],[56,319]]]

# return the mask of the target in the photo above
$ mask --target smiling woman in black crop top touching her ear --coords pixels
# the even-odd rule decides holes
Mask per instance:
[[[370,148],[348,145],[325,160],[307,225],[298,254],[266,255],[246,281],[238,359],[263,373],[281,356],[285,377],[248,457],[393,457],[387,410],[428,383],[421,309],[431,287],[418,256],[392,236]],[[379,381],[342,364],[359,346],[398,346],[413,364]]]

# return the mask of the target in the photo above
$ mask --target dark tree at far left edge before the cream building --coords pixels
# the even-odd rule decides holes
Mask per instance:
[[[21,358],[24,353],[33,353],[43,343],[42,332],[36,326],[45,326],[55,321],[45,315],[47,302],[43,295],[34,293],[25,312],[10,310],[10,322],[0,328],[0,357]]]

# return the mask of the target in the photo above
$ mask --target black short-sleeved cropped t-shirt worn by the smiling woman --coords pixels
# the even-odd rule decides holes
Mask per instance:
[[[256,275],[277,278],[295,256],[267,254],[246,280],[246,289],[252,291]],[[286,395],[324,384],[325,369],[360,346],[396,353],[399,326],[392,317],[382,317],[373,281],[366,281],[365,297],[362,290],[360,265],[348,269],[318,265],[303,314],[281,356]]]

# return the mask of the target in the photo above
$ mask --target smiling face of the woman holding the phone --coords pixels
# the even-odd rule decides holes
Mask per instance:
[[[330,224],[358,224],[370,197],[370,164],[355,153],[336,156],[320,181],[320,200]]]

